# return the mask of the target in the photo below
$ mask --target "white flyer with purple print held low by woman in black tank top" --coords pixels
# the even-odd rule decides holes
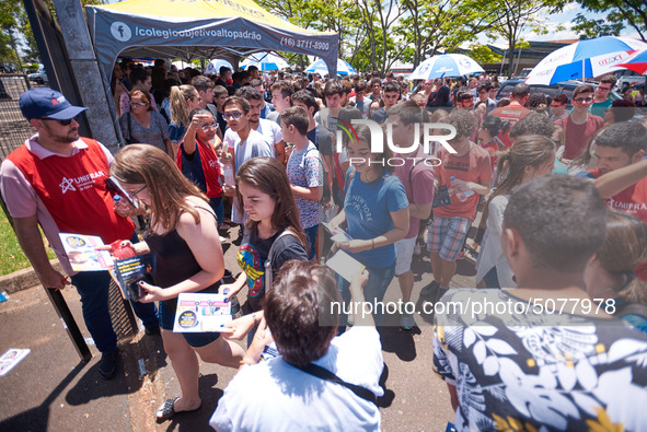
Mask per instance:
[[[174,332],[229,331],[231,303],[227,295],[183,292],[177,296]]]

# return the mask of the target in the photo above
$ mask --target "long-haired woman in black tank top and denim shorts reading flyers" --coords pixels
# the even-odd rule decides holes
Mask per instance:
[[[150,210],[145,242],[124,246],[135,254],[154,253],[155,285],[139,282],[142,303],[160,302],[164,350],[177,376],[182,397],[167,399],[155,412],[163,422],[176,412],[201,406],[198,395],[198,357],[209,363],[238,367],[243,349],[219,332],[173,332],[177,296],[183,292],[217,292],[224,272],[216,215],[207,197],[188,182],[161,150],[132,144],[120,150],[111,173],[128,195]]]

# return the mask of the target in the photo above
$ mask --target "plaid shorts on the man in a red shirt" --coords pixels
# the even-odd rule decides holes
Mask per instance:
[[[429,227],[427,250],[440,253],[440,258],[453,262],[457,260],[472,220],[466,218],[436,218]]]

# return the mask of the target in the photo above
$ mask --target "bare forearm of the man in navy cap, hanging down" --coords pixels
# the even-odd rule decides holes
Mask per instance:
[[[13,226],[15,229],[18,242],[34,267],[43,287],[56,289],[65,288],[66,277],[56,271],[49,264],[49,258],[47,258],[45,244],[43,243],[43,237],[38,230],[38,219],[36,218],[36,214],[27,218],[14,218]]]

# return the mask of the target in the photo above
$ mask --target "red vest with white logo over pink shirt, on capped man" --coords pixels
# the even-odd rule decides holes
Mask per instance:
[[[115,213],[106,189],[108,154],[99,142],[83,138],[74,142],[71,156],[60,155],[41,147],[35,136],[2,163],[0,182],[10,214],[36,214],[59,259],[58,232],[97,235],[106,244],[132,237],[135,225]]]

